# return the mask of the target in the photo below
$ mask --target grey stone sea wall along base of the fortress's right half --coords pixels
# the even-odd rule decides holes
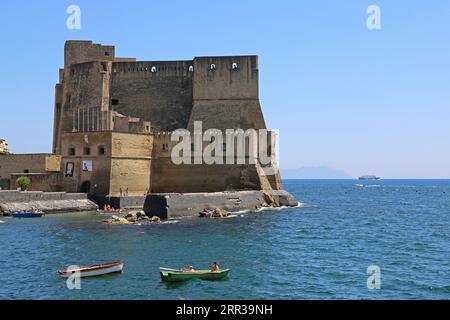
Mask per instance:
[[[255,210],[267,206],[297,206],[289,192],[226,191],[213,193],[161,193],[147,196],[144,211],[162,219],[198,216],[205,208],[221,208],[229,212]]]

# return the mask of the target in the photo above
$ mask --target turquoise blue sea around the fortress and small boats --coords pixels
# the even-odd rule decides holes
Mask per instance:
[[[287,180],[298,208],[111,226],[94,213],[0,225],[0,299],[449,299],[449,180]],[[57,270],[122,260],[69,290]],[[164,267],[231,268],[161,283]],[[381,271],[368,289],[367,268]]]

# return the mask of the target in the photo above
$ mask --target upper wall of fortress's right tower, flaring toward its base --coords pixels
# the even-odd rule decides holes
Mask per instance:
[[[212,69],[212,66],[215,69]],[[265,129],[256,56],[194,59],[193,109],[188,129]]]

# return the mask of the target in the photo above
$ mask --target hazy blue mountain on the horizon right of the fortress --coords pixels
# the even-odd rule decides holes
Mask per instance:
[[[355,179],[342,170],[325,166],[282,169],[281,177],[283,179]]]

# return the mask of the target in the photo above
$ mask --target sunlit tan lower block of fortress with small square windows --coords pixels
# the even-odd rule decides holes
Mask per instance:
[[[81,192],[86,183],[98,195],[142,196],[150,189],[153,138],[150,134],[118,132],[77,132],[63,135],[63,190]],[[86,153],[89,148],[89,154]],[[103,154],[100,153],[100,148]],[[75,155],[70,152],[75,151]],[[92,161],[92,171],[83,170],[83,161]],[[73,176],[66,174],[74,165]]]

